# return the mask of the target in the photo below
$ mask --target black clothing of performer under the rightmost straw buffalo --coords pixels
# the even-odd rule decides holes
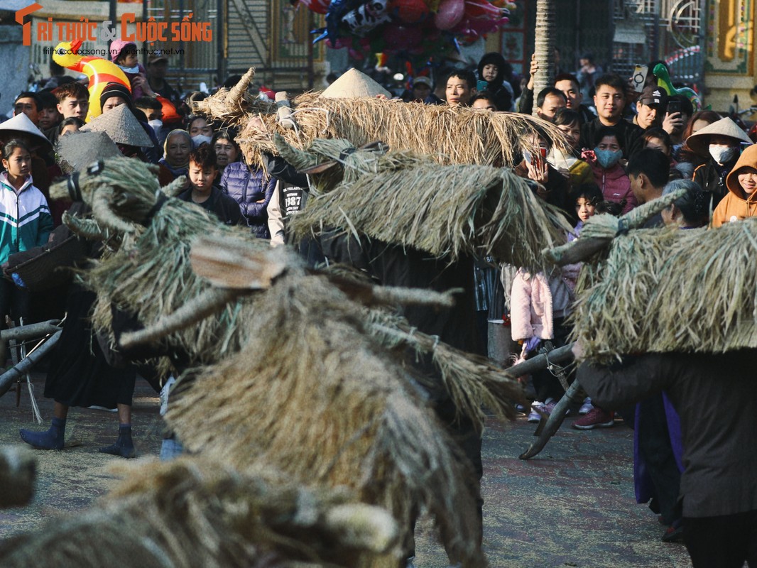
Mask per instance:
[[[740,568],[746,559],[757,565],[755,357],[755,350],[647,354],[620,367],[578,369],[581,385],[602,407],[623,407],[664,390],[678,410],[684,539],[695,568]]]

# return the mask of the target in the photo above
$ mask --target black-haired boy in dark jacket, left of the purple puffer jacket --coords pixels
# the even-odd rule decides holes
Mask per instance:
[[[218,176],[216,160],[216,152],[209,144],[192,150],[189,154],[190,186],[179,194],[179,199],[198,204],[215,214],[221,223],[238,225],[241,220],[239,204],[215,185]]]

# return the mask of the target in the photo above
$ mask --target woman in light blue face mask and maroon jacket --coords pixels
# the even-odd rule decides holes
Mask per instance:
[[[636,207],[637,201],[631,191],[631,180],[621,165],[623,147],[618,133],[612,126],[603,126],[597,130],[596,139],[599,142],[593,151],[584,151],[582,156],[591,166],[603,197],[616,203],[625,200],[623,213],[626,214]]]

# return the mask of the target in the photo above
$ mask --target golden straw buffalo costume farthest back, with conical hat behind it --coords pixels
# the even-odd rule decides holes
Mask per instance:
[[[562,145],[562,134],[545,120],[516,113],[387,100],[370,77],[349,70],[323,92],[309,92],[277,104],[257,101],[247,89],[250,69],[232,89],[194,104],[193,111],[238,126],[238,142],[248,164],[261,164],[263,152],[277,153],[274,134],[303,149],[317,138],[347,139],[356,147],[376,140],[393,150],[428,154],[441,164],[512,167],[520,140],[529,134]],[[279,106],[277,106],[279,105]],[[286,105],[282,114],[281,106]],[[285,118],[282,118],[285,116]]]

